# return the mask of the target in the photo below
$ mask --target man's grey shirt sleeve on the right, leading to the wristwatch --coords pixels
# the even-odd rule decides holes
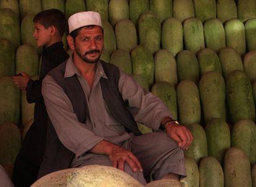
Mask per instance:
[[[135,121],[145,124],[151,129],[158,130],[164,117],[172,117],[160,98],[143,90],[131,76],[121,70],[119,92],[122,94],[122,99],[128,101]]]

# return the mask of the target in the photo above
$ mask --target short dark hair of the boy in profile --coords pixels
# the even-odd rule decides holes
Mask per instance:
[[[33,22],[38,22],[41,25],[48,28],[49,26],[55,26],[59,35],[63,36],[64,32],[67,30],[67,20],[65,15],[58,9],[48,9],[39,12],[35,15]]]

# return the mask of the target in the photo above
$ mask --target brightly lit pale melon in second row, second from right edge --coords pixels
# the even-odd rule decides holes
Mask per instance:
[[[239,55],[244,55],[246,52],[246,38],[244,24],[241,20],[229,20],[224,25],[224,30],[226,33],[226,46],[233,47]]]

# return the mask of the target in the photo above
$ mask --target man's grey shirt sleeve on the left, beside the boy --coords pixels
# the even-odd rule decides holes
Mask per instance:
[[[79,122],[64,90],[49,75],[43,79],[42,94],[49,119],[59,140],[67,149],[75,153],[75,156],[80,156],[101,140],[105,140],[95,135],[86,124]]]

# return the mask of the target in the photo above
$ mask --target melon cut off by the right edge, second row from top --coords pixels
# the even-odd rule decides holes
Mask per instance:
[[[245,37],[246,37],[246,44],[247,50],[256,50],[256,18],[252,18],[245,22]]]

